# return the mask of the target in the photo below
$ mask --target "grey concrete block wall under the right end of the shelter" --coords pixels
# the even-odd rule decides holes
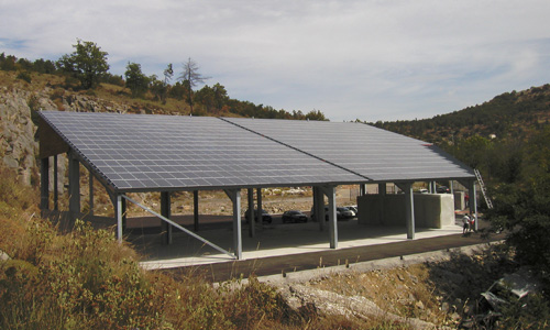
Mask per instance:
[[[360,224],[406,226],[405,195],[358,197]],[[415,224],[442,228],[454,223],[454,198],[450,194],[415,194]]]

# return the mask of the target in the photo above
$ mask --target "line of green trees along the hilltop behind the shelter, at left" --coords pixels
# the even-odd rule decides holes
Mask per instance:
[[[96,89],[100,84],[117,85],[128,88],[132,98],[150,99],[160,105],[165,105],[168,99],[185,102],[189,107],[189,113],[194,116],[232,113],[270,119],[327,120],[321,111],[315,109],[307,113],[301,110],[289,112],[232,99],[219,82],[196,89],[209,77],[200,74],[198,64],[190,57],[183,63],[179,73],[173,64],[167,64],[163,77],[145,75],[141,64],[133,62],[128,63],[123,76],[118,76],[109,73],[109,54],[96,43],[77,40],[73,47],[73,53],[65,54],[57,61],[40,58],[31,62],[1,53],[0,70],[18,72],[18,78],[28,82],[32,80],[30,73],[59,75],[65,77],[66,85],[72,88]]]

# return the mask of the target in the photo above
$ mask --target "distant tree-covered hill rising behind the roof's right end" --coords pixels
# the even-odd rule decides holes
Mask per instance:
[[[431,119],[373,123],[377,128],[436,144],[472,135],[525,140],[550,122],[550,85],[504,92],[482,105]]]

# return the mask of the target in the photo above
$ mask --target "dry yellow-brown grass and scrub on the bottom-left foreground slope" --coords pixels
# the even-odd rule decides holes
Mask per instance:
[[[213,286],[193,271],[145,272],[111,232],[77,221],[61,234],[36,217],[37,191],[15,177],[0,169],[1,329],[402,329],[294,310],[254,278]]]

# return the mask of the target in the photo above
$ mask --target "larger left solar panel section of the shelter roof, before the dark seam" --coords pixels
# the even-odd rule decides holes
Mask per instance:
[[[40,114],[119,193],[365,180],[217,118],[61,111]]]

